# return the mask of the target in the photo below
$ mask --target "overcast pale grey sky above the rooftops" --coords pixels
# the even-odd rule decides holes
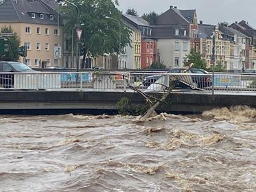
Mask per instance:
[[[196,9],[198,23],[216,25],[244,20],[256,28],[256,0],[119,0],[119,10],[125,13],[128,8],[134,8],[139,16],[152,11],[161,14],[170,5],[181,10]]]

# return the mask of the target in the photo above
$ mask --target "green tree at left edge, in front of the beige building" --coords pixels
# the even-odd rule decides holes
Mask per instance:
[[[12,33],[14,36],[6,36],[8,44],[8,52],[4,55],[0,56],[0,60],[11,60],[16,61],[19,60],[19,45],[21,44],[21,38],[18,36],[16,32],[12,29],[12,27],[3,26],[0,29],[1,33]]]

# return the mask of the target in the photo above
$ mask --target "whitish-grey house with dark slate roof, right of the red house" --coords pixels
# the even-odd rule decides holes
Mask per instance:
[[[157,39],[159,60],[167,68],[183,67],[190,51],[191,38],[196,37],[198,29],[196,10],[170,9],[159,15],[152,34]]]

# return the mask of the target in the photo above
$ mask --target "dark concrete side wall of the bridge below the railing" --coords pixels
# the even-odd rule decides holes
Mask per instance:
[[[161,93],[150,93],[161,97]],[[117,113],[117,102],[128,97],[132,108],[145,104],[134,92],[108,91],[0,91],[1,114],[52,115],[73,113]],[[245,105],[256,108],[256,95],[211,93],[172,93],[159,111],[198,114],[213,108]]]

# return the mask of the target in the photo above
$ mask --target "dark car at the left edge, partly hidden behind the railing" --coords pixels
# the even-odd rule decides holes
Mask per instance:
[[[0,86],[11,88],[14,85],[14,74],[11,72],[33,72],[34,70],[22,62],[0,61]]]

